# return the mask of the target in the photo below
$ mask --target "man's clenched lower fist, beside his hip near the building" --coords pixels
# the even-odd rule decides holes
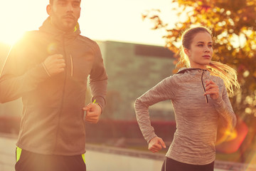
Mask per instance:
[[[89,103],[82,108],[82,110],[86,111],[85,120],[89,123],[97,123],[100,119],[100,115],[102,113],[102,108],[100,105],[96,103]]]

